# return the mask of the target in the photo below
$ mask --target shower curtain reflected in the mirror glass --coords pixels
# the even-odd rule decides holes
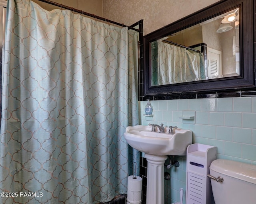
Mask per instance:
[[[152,47],[152,84],[164,85],[205,79],[203,53],[155,41]]]

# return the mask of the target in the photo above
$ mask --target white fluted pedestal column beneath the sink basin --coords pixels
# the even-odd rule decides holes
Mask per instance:
[[[145,157],[148,161],[146,204],[164,204],[164,162],[167,156],[145,153]]]

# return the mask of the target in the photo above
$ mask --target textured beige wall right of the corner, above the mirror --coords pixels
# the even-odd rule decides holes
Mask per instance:
[[[218,0],[103,0],[104,17],[132,25],[144,20],[144,35]]]

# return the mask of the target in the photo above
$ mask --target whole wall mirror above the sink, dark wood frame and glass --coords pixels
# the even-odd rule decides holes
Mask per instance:
[[[223,0],[144,36],[144,96],[255,87],[254,0]]]

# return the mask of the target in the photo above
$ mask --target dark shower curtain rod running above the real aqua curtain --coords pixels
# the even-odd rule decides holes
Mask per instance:
[[[47,4],[52,4],[54,6],[58,6],[60,8],[64,8],[64,9],[67,9],[67,10],[70,10],[70,11],[73,11],[73,12],[76,12],[76,13],[79,13],[79,14],[83,14],[83,15],[86,15],[86,16],[90,16],[92,18],[96,18],[96,19],[99,19],[99,20],[102,20],[102,21],[105,21],[105,22],[108,22],[108,23],[111,23],[111,24],[115,24],[115,25],[118,25],[118,26],[122,26],[122,27],[128,27],[129,29],[132,29],[132,30],[135,30],[135,31],[139,31],[140,29],[136,29],[134,27],[130,27],[130,26],[126,26],[124,24],[120,24],[120,23],[117,23],[117,22],[114,22],[114,21],[111,21],[111,20],[108,20],[106,18],[102,18],[100,16],[96,16],[94,14],[90,14],[90,13],[87,13],[87,12],[84,12],[82,10],[78,10],[76,8],[73,8],[73,7],[70,7],[70,6],[66,6],[66,5],[63,5],[63,4],[59,4],[59,3],[56,3],[56,2],[52,2],[50,0],[38,0],[40,2],[45,2]]]

